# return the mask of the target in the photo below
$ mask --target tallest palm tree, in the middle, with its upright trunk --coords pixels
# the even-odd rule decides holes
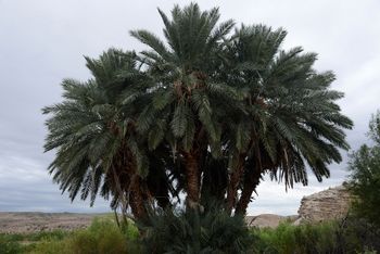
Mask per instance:
[[[220,110],[221,98],[233,97],[229,87],[213,80],[220,45],[233,22],[216,26],[218,9],[201,12],[194,3],[183,9],[176,5],[172,21],[159,11],[166,45],[147,30],[131,33],[149,46],[150,51],[141,52],[141,62],[156,80],[151,88],[151,102],[138,119],[138,129],[141,134],[150,131],[153,149],[165,138],[182,160],[187,203],[194,207],[200,199],[200,162],[210,144],[216,148],[215,154],[219,150],[221,129],[213,112]],[[153,123],[155,119],[160,120]]]

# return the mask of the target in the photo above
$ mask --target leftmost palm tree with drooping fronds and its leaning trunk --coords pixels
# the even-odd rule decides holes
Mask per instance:
[[[136,106],[124,106],[119,93],[143,90],[147,78],[136,68],[135,53],[111,49],[99,60],[86,58],[93,78],[87,82],[65,79],[64,101],[43,109],[49,136],[45,149],[55,149],[50,173],[75,199],[113,196],[112,206],[130,205],[136,217],[144,215],[149,200],[144,178],[148,160],[135,135]],[[143,80],[143,81],[141,81]],[[129,104],[130,105],[130,104]]]

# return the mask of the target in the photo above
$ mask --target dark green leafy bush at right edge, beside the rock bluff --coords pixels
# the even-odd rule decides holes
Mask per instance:
[[[363,144],[350,161],[350,188],[354,194],[354,211],[380,227],[380,112],[372,116],[368,136],[373,145]]]

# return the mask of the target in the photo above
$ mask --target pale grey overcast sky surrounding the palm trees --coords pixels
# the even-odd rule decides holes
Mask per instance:
[[[110,47],[142,49],[128,31],[147,28],[161,35],[156,8],[168,12],[172,0],[0,0],[0,211],[104,212],[61,195],[47,173],[53,154],[45,154],[47,130],[40,109],[61,100],[60,82],[85,80],[83,55],[98,56]],[[339,102],[355,128],[353,149],[365,142],[370,115],[380,109],[380,1],[246,0],[200,1],[203,10],[219,7],[221,20],[263,23],[288,30],[284,48],[302,46],[319,54],[318,71],[332,69],[332,88],[345,92]],[[345,156],[346,157],[346,156]],[[303,195],[340,185],[346,162],[331,165],[322,183],[311,175],[308,187],[284,191],[265,181],[250,214],[296,214]]]

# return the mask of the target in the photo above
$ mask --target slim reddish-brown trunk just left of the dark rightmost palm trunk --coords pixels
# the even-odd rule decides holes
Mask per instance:
[[[227,213],[228,214],[232,213],[232,208],[235,207],[237,202],[238,187],[244,172],[244,158],[245,158],[244,154],[239,155],[238,165],[235,168],[235,170],[231,173],[231,176],[229,179],[229,183],[227,187]]]

